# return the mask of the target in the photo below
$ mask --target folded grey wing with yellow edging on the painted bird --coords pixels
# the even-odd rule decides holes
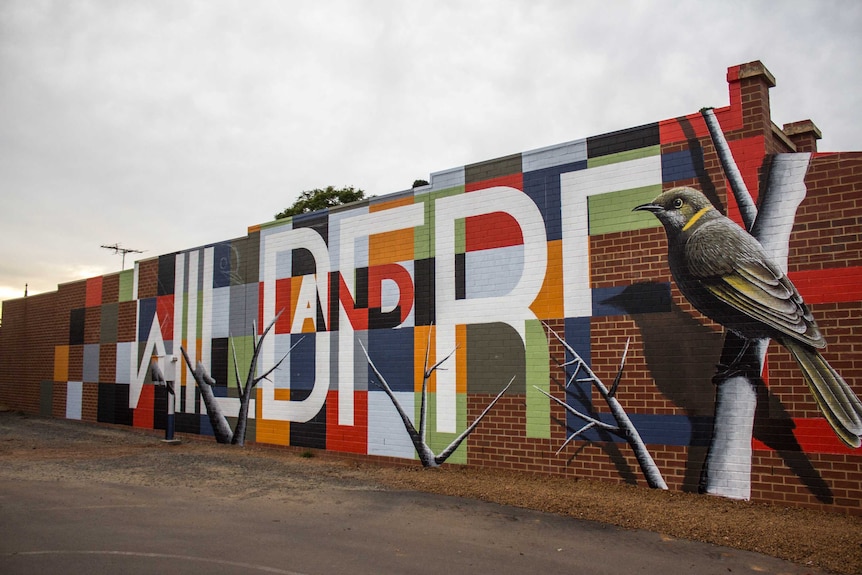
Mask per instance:
[[[736,229],[704,226],[689,238],[686,260],[692,275],[712,295],[755,321],[808,345],[824,347],[814,317],[781,268],[747,232],[731,222],[725,225]]]

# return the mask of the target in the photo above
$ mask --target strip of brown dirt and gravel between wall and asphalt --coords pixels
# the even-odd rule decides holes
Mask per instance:
[[[862,518],[595,481],[447,466],[382,466],[0,411],[0,478],[183,486],[229,498],[371,486],[467,497],[862,573]]]

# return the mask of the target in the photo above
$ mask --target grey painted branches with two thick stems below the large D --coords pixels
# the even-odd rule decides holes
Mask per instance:
[[[255,376],[255,372],[257,371],[257,362],[260,357],[261,348],[263,346],[264,338],[269,334],[272,327],[275,325],[275,322],[278,321],[278,318],[281,316],[284,310],[279,312],[269,323],[264,332],[257,336],[257,322],[252,322],[252,333],[255,334],[254,342],[252,344],[252,358],[251,363],[248,368],[248,375],[245,378],[244,383],[240,383],[242,378],[239,375],[239,360],[236,355],[236,346],[231,342],[231,350],[233,353],[233,365],[234,365],[234,375],[236,376],[236,386],[237,393],[239,395],[239,413],[237,414],[237,423],[236,429],[231,430],[230,423],[228,423],[227,417],[225,417],[224,412],[221,408],[221,404],[218,402],[218,399],[213,393],[212,387],[216,384],[215,380],[210,376],[207,372],[206,367],[204,367],[203,363],[200,361],[197,362],[195,369],[191,368],[191,360],[189,359],[188,353],[186,350],[180,347],[180,351],[183,354],[183,358],[185,359],[186,365],[191,371],[192,376],[195,379],[195,382],[198,385],[198,389],[201,392],[201,399],[204,402],[204,407],[207,410],[207,416],[210,420],[210,425],[213,428],[213,434],[215,435],[216,441],[218,443],[230,443],[232,445],[244,445],[245,444],[245,436],[246,431],[248,429],[248,409],[249,404],[251,403],[251,392],[257,386],[258,383],[263,381],[264,379],[269,379],[269,375],[278,369],[281,364],[287,359],[287,356],[290,355],[290,352],[299,345],[302,341],[301,339],[296,342],[291,348],[284,354],[275,365],[269,368],[265,373],[259,376]]]

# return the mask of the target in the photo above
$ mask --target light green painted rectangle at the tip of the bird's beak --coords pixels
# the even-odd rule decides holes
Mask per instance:
[[[633,212],[635,206],[651,202],[661,193],[661,184],[609,192],[587,198],[590,235],[654,228],[658,220],[647,212]]]

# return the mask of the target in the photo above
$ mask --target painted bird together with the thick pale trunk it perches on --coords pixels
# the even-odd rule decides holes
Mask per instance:
[[[792,223],[805,196],[803,178],[809,155],[783,154],[776,159],[758,211],[745,182],[738,177],[714,113],[710,109],[702,113],[716,141],[745,228],[721,214],[700,191],[689,187],[672,188],[634,210],[652,213],[664,226],[668,265],[685,298],[729,330],[722,360],[731,359],[719,364],[713,378],[719,389],[714,457],[705,462],[701,488],[748,499],[750,424],[769,339],[790,351],[829,425],[844,444],[854,449],[860,446],[862,435],[862,402],[818,351],[826,347],[826,341],[784,272]],[[735,443],[716,443],[723,425],[741,427],[736,430]],[[739,461],[746,460],[748,465],[740,472]]]

